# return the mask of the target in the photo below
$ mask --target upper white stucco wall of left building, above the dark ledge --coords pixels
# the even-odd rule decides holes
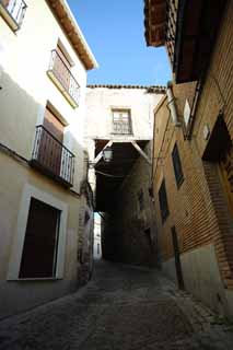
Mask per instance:
[[[75,183],[82,177],[83,121],[86,71],[46,1],[28,0],[22,27],[14,34],[0,18],[0,119],[1,142],[31,158],[35,126],[43,122],[47,101],[68,126],[65,144],[77,156]],[[72,74],[81,90],[78,108],[72,108],[47,75],[51,50],[61,40],[74,66]]]

